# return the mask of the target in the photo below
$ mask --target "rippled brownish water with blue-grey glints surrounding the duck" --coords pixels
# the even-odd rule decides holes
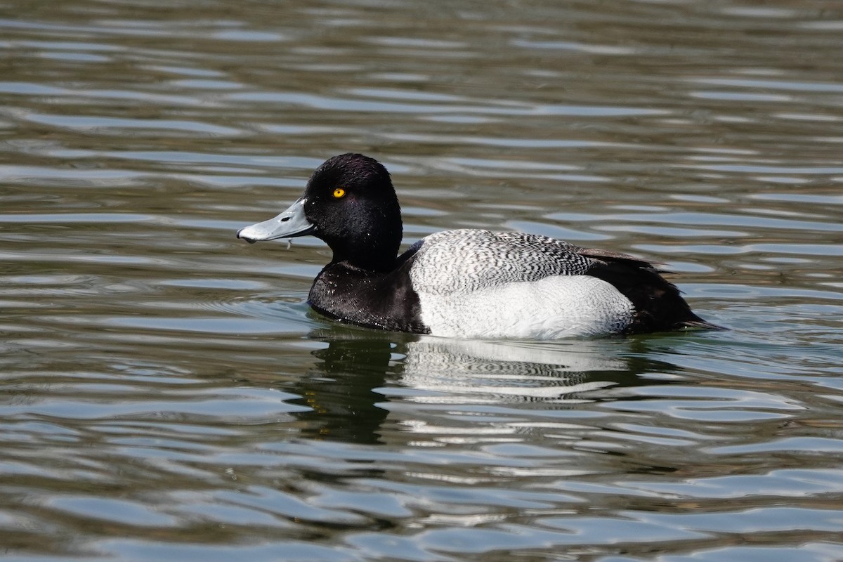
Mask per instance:
[[[835,3],[13,0],[4,559],[843,559]],[[405,244],[663,262],[728,332],[459,341],[243,244],[347,151]]]

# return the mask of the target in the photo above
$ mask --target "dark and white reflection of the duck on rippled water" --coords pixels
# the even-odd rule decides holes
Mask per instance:
[[[407,410],[410,404],[569,408],[598,398],[600,388],[645,384],[638,372],[671,368],[630,359],[634,340],[490,342],[353,327],[310,338],[327,346],[313,352],[318,361],[294,389],[310,408],[296,417],[305,422],[305,436],[342,442],[379,442],[390,411],[424,417],[410,414],[416,409]],[[409,419],[401,423],[412,426]]]

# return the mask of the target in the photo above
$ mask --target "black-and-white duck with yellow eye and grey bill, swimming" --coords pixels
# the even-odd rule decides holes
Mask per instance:
[[[374,158],[329,158],[277,217],[240,228],[249,243],[314,236],[333,252],[309,306],[341,323],[478,340],[556,340],[717,329],[652,263],[556,238],[461,228],[400,253],[401,209]]]

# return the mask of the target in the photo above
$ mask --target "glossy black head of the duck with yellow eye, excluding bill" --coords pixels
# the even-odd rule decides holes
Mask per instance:
[[[401,208],[389,172],[374,158],[341,154],[310,176],[304,215],[334,261],[389,270],[401,244]]]

